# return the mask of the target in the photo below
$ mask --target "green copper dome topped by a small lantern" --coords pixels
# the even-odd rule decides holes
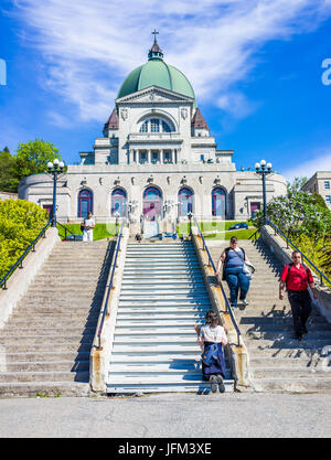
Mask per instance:
[[[124,97],[156,85],[192,97],[195,107],[195,96],[191,83],[181,71],[164,63],[162,51],[156,40],[148,58],[146,64],[135,68],[127,76],[117,97]]]

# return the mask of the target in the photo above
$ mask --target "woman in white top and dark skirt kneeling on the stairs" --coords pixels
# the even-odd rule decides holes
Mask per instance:
[[[209,310],[205,325],[195,325],[194,329],[203,350],[201,355],[203,379],[211,382],[213,393],[216,393],[217,385],[220,393],[224,393],[225,360],[222,345],[227,344],[225,328],[221,325],[218,315],[213,310]]]

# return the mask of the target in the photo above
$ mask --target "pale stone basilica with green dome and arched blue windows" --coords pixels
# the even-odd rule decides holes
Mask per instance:
[[[190,212],[209,221],[245,221],[260,207],[260,178],[237,170],[233,150],[217,148],[192,85],[164,62],[156,39],[109,113],[93,150],[81,152],[81,163],[68,165],[57,182],[60,222],[81,222],[88,211],[100,223],[122,216],[179,222]],[[269,174],[266,184],[267,200],[286,194],[284,176]],[[52,195],[47,174],[20,183],[19,197],[50,211]]]

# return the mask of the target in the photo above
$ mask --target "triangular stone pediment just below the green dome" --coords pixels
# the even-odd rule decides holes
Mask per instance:
[[[169,104],[169,103],[194,103],[193,97],[185,96],[160,86],[149,86],[139,92],[116,99],[116,104]]]

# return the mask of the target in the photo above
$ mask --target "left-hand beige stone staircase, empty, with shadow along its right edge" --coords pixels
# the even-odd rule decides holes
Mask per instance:
[[[0,397],[88,394],[114,243],[57,243],[0,330]]]

